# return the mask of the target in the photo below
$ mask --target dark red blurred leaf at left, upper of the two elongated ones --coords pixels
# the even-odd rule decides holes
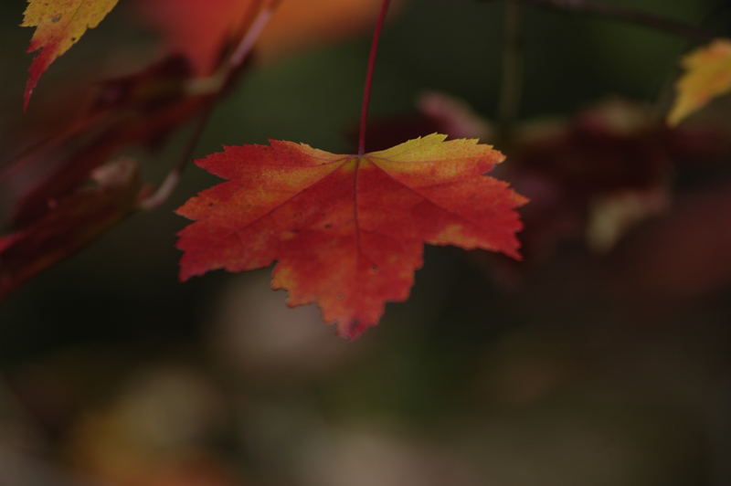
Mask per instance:
[[[11,219],[25,226],[48,211],[48,201],[68,195],[95,167],[129,145],[154,145],[199,113],[213,95],[189,94],[185,83],[190,69],[183,58],[170,57],[118,79],[105,80],[89,100],[89,108],[69,122],[69,129],[54,133],[16,160],[0,187],[20,192]],[[18,182],[33,173],[32,184]]]

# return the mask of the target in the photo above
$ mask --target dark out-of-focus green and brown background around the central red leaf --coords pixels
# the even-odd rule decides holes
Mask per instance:
[[[731,26],[721,0],[606,3]],[[196,156],[267,139],[353,151],[377,5],[346,36],[263,51]],[[24,8],[0,5],[4,164],[64,122],[69,93],[163,53],[121,2],[23,114]],[[348,343],[312,306],[288,309],[269,269],[177,281],[173,211],[217,183],[191,165],[163,206],[0,302],[0,484],[731,483],[731,100],[670,130],[678,61],[697,43],[524,5],[519,122],[501,137],[503,10],[397,5],[369,144],[495,143],[497,175],[532,199],[524,262],[427,248],[411,298]],[[159,182],[187,126],[122,154]]]

